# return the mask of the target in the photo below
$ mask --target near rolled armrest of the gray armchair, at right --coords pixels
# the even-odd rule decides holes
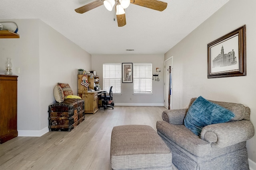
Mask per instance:
[[[253,136],[254,127],[247,120],[212,124],[205,126],[201,131],[201,139],[218,148],[246,141]]]

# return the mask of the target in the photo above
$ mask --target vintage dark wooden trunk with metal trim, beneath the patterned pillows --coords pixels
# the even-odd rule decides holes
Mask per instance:
[[[66,99],[49,106],[49,131],[71,131],[84,121],[84,100]]]

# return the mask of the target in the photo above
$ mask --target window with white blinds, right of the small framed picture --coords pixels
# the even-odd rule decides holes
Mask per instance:
[[[152,63],[133,64],[134,94],[152,94]]]

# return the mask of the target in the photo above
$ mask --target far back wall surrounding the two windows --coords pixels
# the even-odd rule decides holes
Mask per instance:
[[[152,95],[133,95],[133,83],[121,84],[121,95],[113,95],[114,103],[126,106],[164,106],[164,54],[159,55],[92,55],[92,70],[100,77],[102,86],[103,63],[152,63],[152,73],[156,73],[156,67],[160,81],[152,82]],[[130,98],[132,100],[130,100]]]

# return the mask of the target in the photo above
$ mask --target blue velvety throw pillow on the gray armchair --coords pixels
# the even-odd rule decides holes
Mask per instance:
[[[184,125],[194,134],[200,136],[203,127],[228,122],[233,117],[235,117],[235,114],[232,111],[209,102],[200,96],[189,107],[184,119]]]

